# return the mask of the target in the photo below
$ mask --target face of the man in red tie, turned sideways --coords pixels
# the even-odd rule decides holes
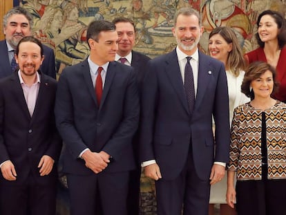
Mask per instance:
[[[88,39],[93,62],[99,66],[106,64],[106,62],[113,62],[118,50],[117,40],[116,30],[100,32],[98,41]]]

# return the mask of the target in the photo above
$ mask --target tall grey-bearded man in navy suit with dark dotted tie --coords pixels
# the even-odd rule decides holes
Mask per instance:
[[[203,27],[196,10],[178,10],[172,31],[177,48],[149,61],[143,83],[142,166],[156,180],[158,215],[180,215],[182,208],[184,215],[207,215],[210,184],[221,180],[229,160],[225,67],[198,50]]]

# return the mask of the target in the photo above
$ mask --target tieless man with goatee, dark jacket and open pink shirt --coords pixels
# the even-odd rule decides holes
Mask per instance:
[[[39,40],[23,37],[15,53],[19,69],[0,80],[1,215],[55,215],[57,81],[39,71],[43,53]]]

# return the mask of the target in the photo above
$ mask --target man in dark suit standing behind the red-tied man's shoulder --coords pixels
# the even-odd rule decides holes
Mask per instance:
[[[150,57],[132,50],[133,46],[135,46],[135,24],[131,19],[117,17],[113,20],[113,24],[116,26],[118,35],[118,50],[115,61],[134,68],[140,91],[144,74],[146,73],[147,62],[149,62]],[[129,215],[139,214],[141,163],[139,159],[139,140],[137,133],[133,139],[133,149],[135,153],[136,169],[130,173],[128,192]]]

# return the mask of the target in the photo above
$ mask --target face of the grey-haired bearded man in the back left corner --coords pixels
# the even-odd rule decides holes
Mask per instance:
[[[7,26],[4,28],[6,40],[16,49],[19,41],[31,35],[30,24],[24,15],[12,15],[8,18]]]

